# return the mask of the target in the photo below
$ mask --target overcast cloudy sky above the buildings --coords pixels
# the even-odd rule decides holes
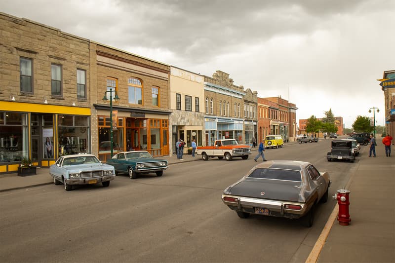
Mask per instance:
[[[395,70],[394,0],[1,0],[0,11],[281,96],[297,119],[332,109],[384,125],[376,79]]]

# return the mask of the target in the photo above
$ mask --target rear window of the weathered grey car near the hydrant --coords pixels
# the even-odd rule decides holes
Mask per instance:
[[[248,177],[302,182],[300,171],[285,169],[257,168]]]

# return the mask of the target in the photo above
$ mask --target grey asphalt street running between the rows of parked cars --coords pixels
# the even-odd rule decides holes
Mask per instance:
[[[327,162],[329,143],[292,144],[265,156],[328,171],[332,196],[347,184],[358,158]],[[311,228],[298,220],[238,218],[221,194],[256,165],[253,157],[173,164],[162,177],[119,175],[109,188],[1,192],[0,261],[305,262],[336,202],[317,207]]]

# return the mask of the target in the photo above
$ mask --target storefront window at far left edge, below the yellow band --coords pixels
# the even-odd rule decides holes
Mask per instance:
[[[29,158],[27,131],[27,113],[0,111],[0,162]]]

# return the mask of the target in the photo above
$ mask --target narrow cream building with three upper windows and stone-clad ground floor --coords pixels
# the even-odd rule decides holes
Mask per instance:
[[[170,68],[170,155],[176,153],[178,139],[186,142],[188,153],[192,140],[205,145],[204,77],[180,68]]]

